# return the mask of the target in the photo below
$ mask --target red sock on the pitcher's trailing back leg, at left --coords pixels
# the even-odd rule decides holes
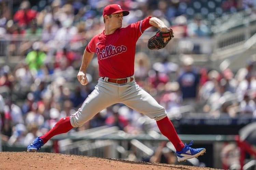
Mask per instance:
[[[45,135],[41,136],[40,138],[43,139],[44,143],[46,143],[53,136],[59,135],[61,133],[67,133],[72,128],[73,126],[70,123],[70,118],[65,117],[60,119],[50,131],[48,131]]]

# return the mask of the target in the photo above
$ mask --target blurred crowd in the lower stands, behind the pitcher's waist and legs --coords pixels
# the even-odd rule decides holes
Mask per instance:
[[[36,53],[38,63],[30,63],[30,53]],[[95,73],[97,58],[88,69],[89,84],[82,86],[72,66],[61,70],[54,63],[51,69],[40,63],[39,58],[45,54],[40,51],[30,53],[14,70],[9,66],[0,70],[3,96],[0,97],[0,127],[2,139],[10,144],[27,145],[51,129],[60,118],[74,114],[93,91],[98,79]],[[194,66],[189,55],[184,55],[181,61],[181,67],[169,62],[168,58],[151,64],[145,53],[136,54],[137,83],[166,108],[170,118],[180,119],[185,112],[205,113],[215,118],[221,115],[256,116],[255,62],[249,61],[246,68],[234,74],[229,68],[217,71]],[[73,131],[109,125],[139,134],[152,129],[158,131],[154,122],[123,104],[116,104]]]

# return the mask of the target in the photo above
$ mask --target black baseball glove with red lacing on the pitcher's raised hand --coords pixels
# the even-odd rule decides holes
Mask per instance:
[[[166,42],[164,42],[163,39],[168,37],[170,38]],[[157,31],[156,35],[154,35],[148,40],[147,47],[151,50],[159,50],[161,48],[164,48],[173,37],[174,33],[172,29],[169,29],[168,32]]]

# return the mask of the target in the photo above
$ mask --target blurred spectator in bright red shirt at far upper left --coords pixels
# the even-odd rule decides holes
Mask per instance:
[[[29,1],[23,1],[20,4],[20,10],[14,14],[13,19],[18,22],[20,27],[27,27],[36,16],[37,11],[30,9]]]

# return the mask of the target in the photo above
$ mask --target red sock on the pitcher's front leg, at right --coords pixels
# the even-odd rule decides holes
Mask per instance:
[[[176,151],[181,151],[185,147],[184,143],[181,141],[177,132],[175,131],[172,122],[167,116],[156,121],[156,123],[160,132],[172,142]]]

